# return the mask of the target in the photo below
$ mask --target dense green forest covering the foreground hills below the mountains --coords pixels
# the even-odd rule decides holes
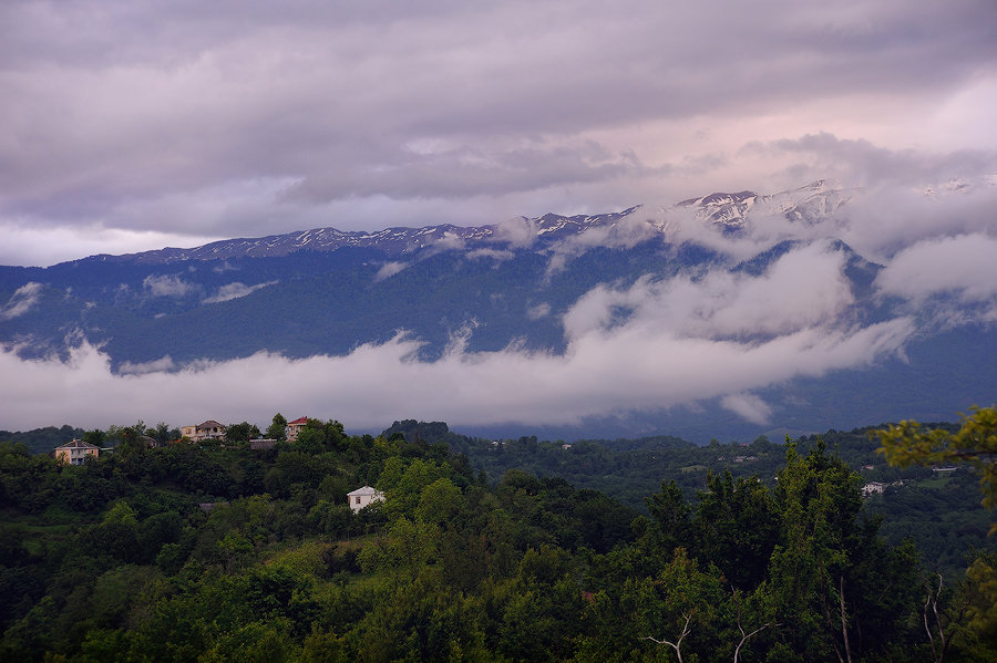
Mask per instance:
[[[114,452],[79,466],[0,444],[0,657],[997,656],[979,475],[887,467],[870,431],[567,445],[311,419],[250,448],[244,424],[82,432]],[[383,500],[354,512],[364,485]]]

